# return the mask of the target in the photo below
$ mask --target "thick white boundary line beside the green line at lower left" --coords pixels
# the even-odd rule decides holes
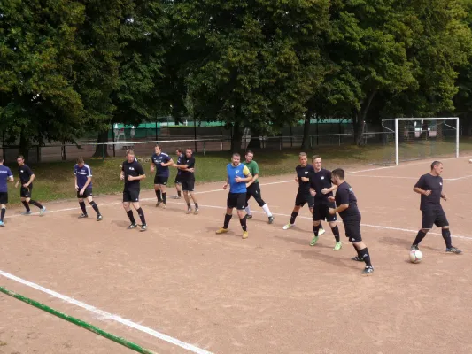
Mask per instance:
[[[43,293],[46,293],[50,296],[57,297],[57,298],[65,301],[66,303],[74,304],[74,305],[79,306],[82,309],[85,309],[89,312],[93,312],[98,316],[98,319],[101,319],[101,320],[111,319],[111,320],[113,320],[115,322],[118,322],[122,325],[134,328],[134,329],[136,329],[138,331],[141,331],[141,332],[143,332],[147,335],[152,335],[153,337],[159,338],[160,340],[162,340],[164,342],[174,344],[178,347],[181,347],[185,350],[189,350],[189,351],[191,351],[193,353],[196,353],[196,354],[212,354],[210,351],[200,349],[200,348],[196,347],[195,345],[192,345],[192,344],[189,344],[189,343],[186,343],[186,342],[182,342],[182,341],[180,341],[178,339],[175,339],[174,337],[171,337],[169,335],[164,335],[164,334],[162,334],[158,331],[155,331],[154,329],[151,329],[150,327],[145,327],[143,325],[139,325],[139,324],[137,324],[133,321],[130,321],[129,319],[123,319],[118,315],[114,315],[110,312],[105,312],[103,310],[97,309],[97,307],[95,307],[95,306],[91,306],[89,304],[82,303],[81,301],[75,300],[72,297],[65,296],[65,295],[59,294],[56,291],[43,288],[41,285],[35,284],[34,282],[25,281],[24,279],[21,279],[21,278],[15,276],[13,274],[6,273],[6,272],[0,270],[0,275],[3,275],[5,278],[8,278],[12,281],[18,281],[19,283],[21,283],[23,285],[26,285],[27,287],[42,291]]]

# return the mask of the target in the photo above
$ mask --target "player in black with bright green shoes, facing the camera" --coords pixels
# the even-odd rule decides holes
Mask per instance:
[[[333,250],[341,250],[343,243],[339,240],[339,229],[337,228],[336,214],[330,215],[329,208],[336,208],[333,202],[329,201],[329,197],[333,196],[333,190],[337,189],[336,185],[331,182],[331,172],[322,168],[321,156],[314,155],[312,158],[314,173],[310,178],[311,194],[314,196],[313,208],[313,239],[310,246],[314,246],[318,241],[318,232],[320,230],[321,220],[326,220],[331,227],[331,231],[335,236],[336,244]]]

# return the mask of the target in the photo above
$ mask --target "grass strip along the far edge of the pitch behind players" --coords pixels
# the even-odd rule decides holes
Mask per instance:
[[[421,149],[414,145],[403,149],[413,150],[414,155],[421,152]],[[433,152],[437,155],[439,151],[450,154],[450,146],[447,149],[437,146]],[[259,163],[260,176],[274,176],[280,174],[294,173],[294,168],[298,164],[299,149],[277,150],[256,150],[254,159]],[[460,143],[462,153],[472,151],[472,139],[462,139]],[[324,165],[327,168],[352,167],[354,165],[369,165],[372,163],[382,163],[387,158],[391,159],[393,150],[391,147],[371,145],[358,147],[355,145],[342,146],[321,146],[316,150],[306,150],[308,156],[320,154]],[[226,168],[230,159],[230,152],[211,152],[205,156],[196,156],[196,179],[197,184],[210,181],[224,181],[226,178]],[[409,156],[409,155],[408,155]],[[138,157],[140,158],[140,157]],[[147,158],[147,157],[146,157]],[[175,157],[174,157],[175,158]],[[120,165],[124,158],[101,158],[89,159],[86,161],[92,168],[94,195],[109,195],[121,193],[123,182],[120,181]],[[16,165],[9,165],[18,179]],[[74,189],[74,162],[55,162],[31,165],[36,175],[34,182],[33,197],[40,202],[50,202],[62,199],[74,199],[76,192]],[[142,181],[142,189],[153,188],[153,175],[149,170],[149,162],[143,163],[147,178]],[[169,187],[174,186],[174,176],[176,170],[171,168]],[[14,189],[12,183],[9,184],[10,204],[19,204],[19,189]],[[172,191],[174,193],[174,189]]]

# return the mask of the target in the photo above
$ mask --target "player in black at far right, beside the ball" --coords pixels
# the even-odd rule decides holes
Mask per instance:
[[[420,203],[422,229],[418,231],[411,250],[419,250],[418,245],[434,224],[437,227],[441,227],[441,232],[445,240],[445,251],[447,253],[460,254],[462,251],[453,247],[451,232],[449,231],[449,222],[441,206],[441,198],[445,201],[447,200],[447,197],[443,193],[443,178],[441,177],[441,173],[443,173],[443,164],[439,161],[434,161],[431,164],[431,171],[423,174],[420,180],[414,185],[413,190],[422,195]]]

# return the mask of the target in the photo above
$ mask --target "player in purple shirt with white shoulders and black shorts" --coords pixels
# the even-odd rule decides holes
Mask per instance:
[[[92,169],[89,165],[85,164],[83,158],[77,158],[77,164],[74,165],[74,176],[75,176],[75,190],[77,191],[77,199],[79,199],[79,205],[81,205],[81,216],[79,219],[89,218],[87,209],[85,209],[84,199],[87,199],[90,206],[95,212],[97,212],[97,221],[102,221],[104,218],[98,210],[97,204],[93,200],[92,196]]]

